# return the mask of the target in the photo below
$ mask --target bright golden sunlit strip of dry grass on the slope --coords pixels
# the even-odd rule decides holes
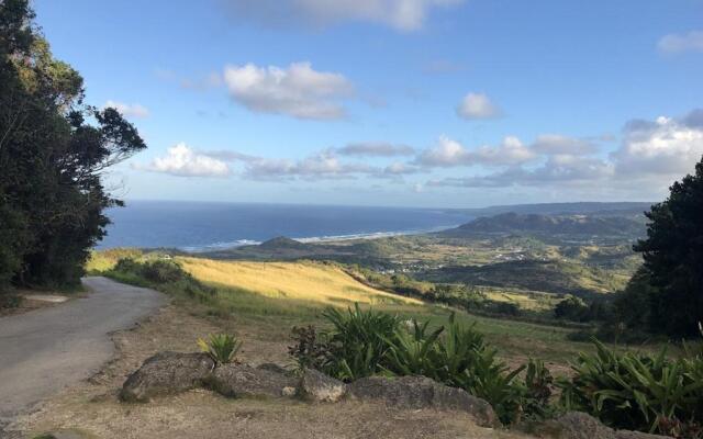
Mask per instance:
[[[335,266],[320,262],[247,262],[178,258],[197,279],[233,286],[268,297],[315,302],[324,305],[416,304],[422,302],[389,294],[356,281]]]

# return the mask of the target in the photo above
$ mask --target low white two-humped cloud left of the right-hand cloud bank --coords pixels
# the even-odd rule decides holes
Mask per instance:
[[[481,146],[472,150],[447,136],[440,136],[437,145],[423,151],[416,161],[426,167],[506,166],[523,164],[535,157],[536,154],[514,136],[505,137],[498,146]]]

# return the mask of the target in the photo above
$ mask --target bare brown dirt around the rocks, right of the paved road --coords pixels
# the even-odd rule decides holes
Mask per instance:
[[[271,341],[256,325],[237,327],[246,341],[239,358],[258,364],[288,361],[288,340]],[[160,350],[192,351],[209,333],[232,330],[237,320],[215,320],[168,305],[135,329],[114,334],[115,358],[88,382],[67,389],[10,426],[32,435],[79,430],[108,438],[517,438],[477,427],[461,413],[403,410],[343,402],[230,399],[192,391],[148,404],[120,403],[116,393],[129,373]]]

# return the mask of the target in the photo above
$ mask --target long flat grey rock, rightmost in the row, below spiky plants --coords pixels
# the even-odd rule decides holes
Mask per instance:
[[[461,410],[470,414],[480,426],[500,425],[493,408],[486,401],[425,376],[362,378],[349,384],[349,395],[361,401],[383,401],[388,405],[404,408]]]

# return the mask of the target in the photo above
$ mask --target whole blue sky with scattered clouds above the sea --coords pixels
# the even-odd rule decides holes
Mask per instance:
[[[700,0],[34,7],[149,146],[127,199],[651,201],[703,155]]]

